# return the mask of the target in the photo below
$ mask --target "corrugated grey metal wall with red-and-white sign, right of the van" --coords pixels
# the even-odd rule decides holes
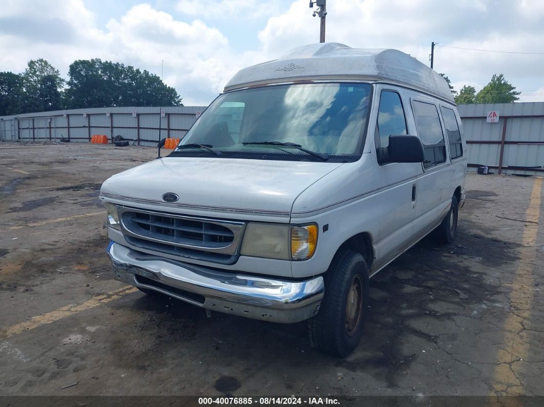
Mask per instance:
[[[458,106],[467,140],[469,170],[544,175],[544,102]],[[489,112],[499,115],[487,123]],[[532,167],[532,168],[531,168]]]

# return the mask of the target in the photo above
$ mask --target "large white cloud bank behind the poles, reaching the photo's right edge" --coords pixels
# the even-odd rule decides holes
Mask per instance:
[[[431,41],[462,48],[517,52],[541,52],[540,44],[544,43],[542,0],[493,3],[484,0],[335,0],[329,3],[327,41],[357,48],[397,48],[424,64],[429,63]],[[304,43],[317,42],[319,21],[308,18],[310,15],[305,2],[295,2],[284,14],[271,17],[258,34],[268,57],[277,57]],[[479,90],[494,73],[504,73],[506,80],[517,89],[535,89],[531,83],[544,82],[542,66],[544,55],[435,48],[435,70],[446,73],[457,90],[462,84],[471,84]]]

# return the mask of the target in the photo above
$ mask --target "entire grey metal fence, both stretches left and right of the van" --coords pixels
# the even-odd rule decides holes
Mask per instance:
[[[206,107],[125,107],[59,110],[0,117],[0,140],[90,141],[120,135],[140,146],[160,137],[181,139]],[[544,102],[459,105],[469,170],[487,166],[500,173],[544,174]],[[487,115],[498,113],[495,123]]]

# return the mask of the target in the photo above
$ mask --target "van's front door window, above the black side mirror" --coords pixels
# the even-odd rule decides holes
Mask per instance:
[[[378,124],[376,126],[376,147],[387,147],[389,136],[406,134],[406,119],[403,104],[397,92],[382,91],[378,109]],[[378,144],[379,142],[379,144]]]

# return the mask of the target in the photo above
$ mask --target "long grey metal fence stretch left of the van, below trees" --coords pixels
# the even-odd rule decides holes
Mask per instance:
[[[181,139],[206,107],[124,107],[58,110],[0,117],[0,140],[90,141],[103,134],[120,135],[138,146],[154,146],[160,138]]]

